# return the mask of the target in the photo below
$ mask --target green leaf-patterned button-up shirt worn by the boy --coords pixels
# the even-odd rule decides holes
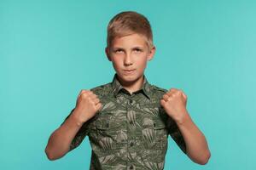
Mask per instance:
[[[83,124],[70,145],[73,150],[89,137],[90,170],[164,169],[168,134],[186,154],[176,122],[160,105],[166,89],[149,84],[144,76],[143,87],[130,94],[115,74],[112,82],[90,90],[102,110]]]

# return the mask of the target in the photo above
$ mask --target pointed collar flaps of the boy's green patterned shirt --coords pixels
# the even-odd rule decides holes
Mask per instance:
[[[113,95],[114,95],[114,97],[116,97],[116,95],[119,94],[119,91],[123,88],[123,86],[119,82],[117,73],[115,73],[113,76],[113,81],[111,82],[111,86],[113,89]],[[148,99],[150,99],[150,97],[151,97],[149,88],[150,88],[150,84],[149,84],[147,78],[145,77],[145,75],[143,75],[143,87],[140,90],[143,90],[143,93],[148,97]]]

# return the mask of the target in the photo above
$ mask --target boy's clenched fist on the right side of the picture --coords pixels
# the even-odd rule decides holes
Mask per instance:
[[[187,96],[182,90],[171,88],[160,100],[166,113],[172,117],[175,122],[182,122],[183,118],[188,114],[186,110]]]

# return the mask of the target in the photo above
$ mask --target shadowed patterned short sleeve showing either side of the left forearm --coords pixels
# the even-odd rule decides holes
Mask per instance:
[[[73,109],[74,110],[74,109]],[[65,120],[61,123],[61,125],[67,120],[67,118],[73,113],[73,110],[70,111],[69,115],[65,118]],[[77,148],[79,146],[79,144],[82,143],[82,141],[84,140],[85,136],[88,134],[89,132],[89,128],[88,128],[88,123],[89,122],[85,122],[82,127],[80,127],[78,133],[76,133],[75,137],[73,138],[73,141],[70,144],[69,147],[69,151]]]

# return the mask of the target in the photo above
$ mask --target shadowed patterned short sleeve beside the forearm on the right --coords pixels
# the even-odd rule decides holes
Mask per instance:
[[[183,150],[184,154],[187,154],[186,151],[186,144],[183,139],[183,135],[180,132],[179,128],[177,127],[177,123],[169,116],[167,119],[167,127],[168,127],[168,133],[172,137],[172,139],[176,142],[178,147]]]

